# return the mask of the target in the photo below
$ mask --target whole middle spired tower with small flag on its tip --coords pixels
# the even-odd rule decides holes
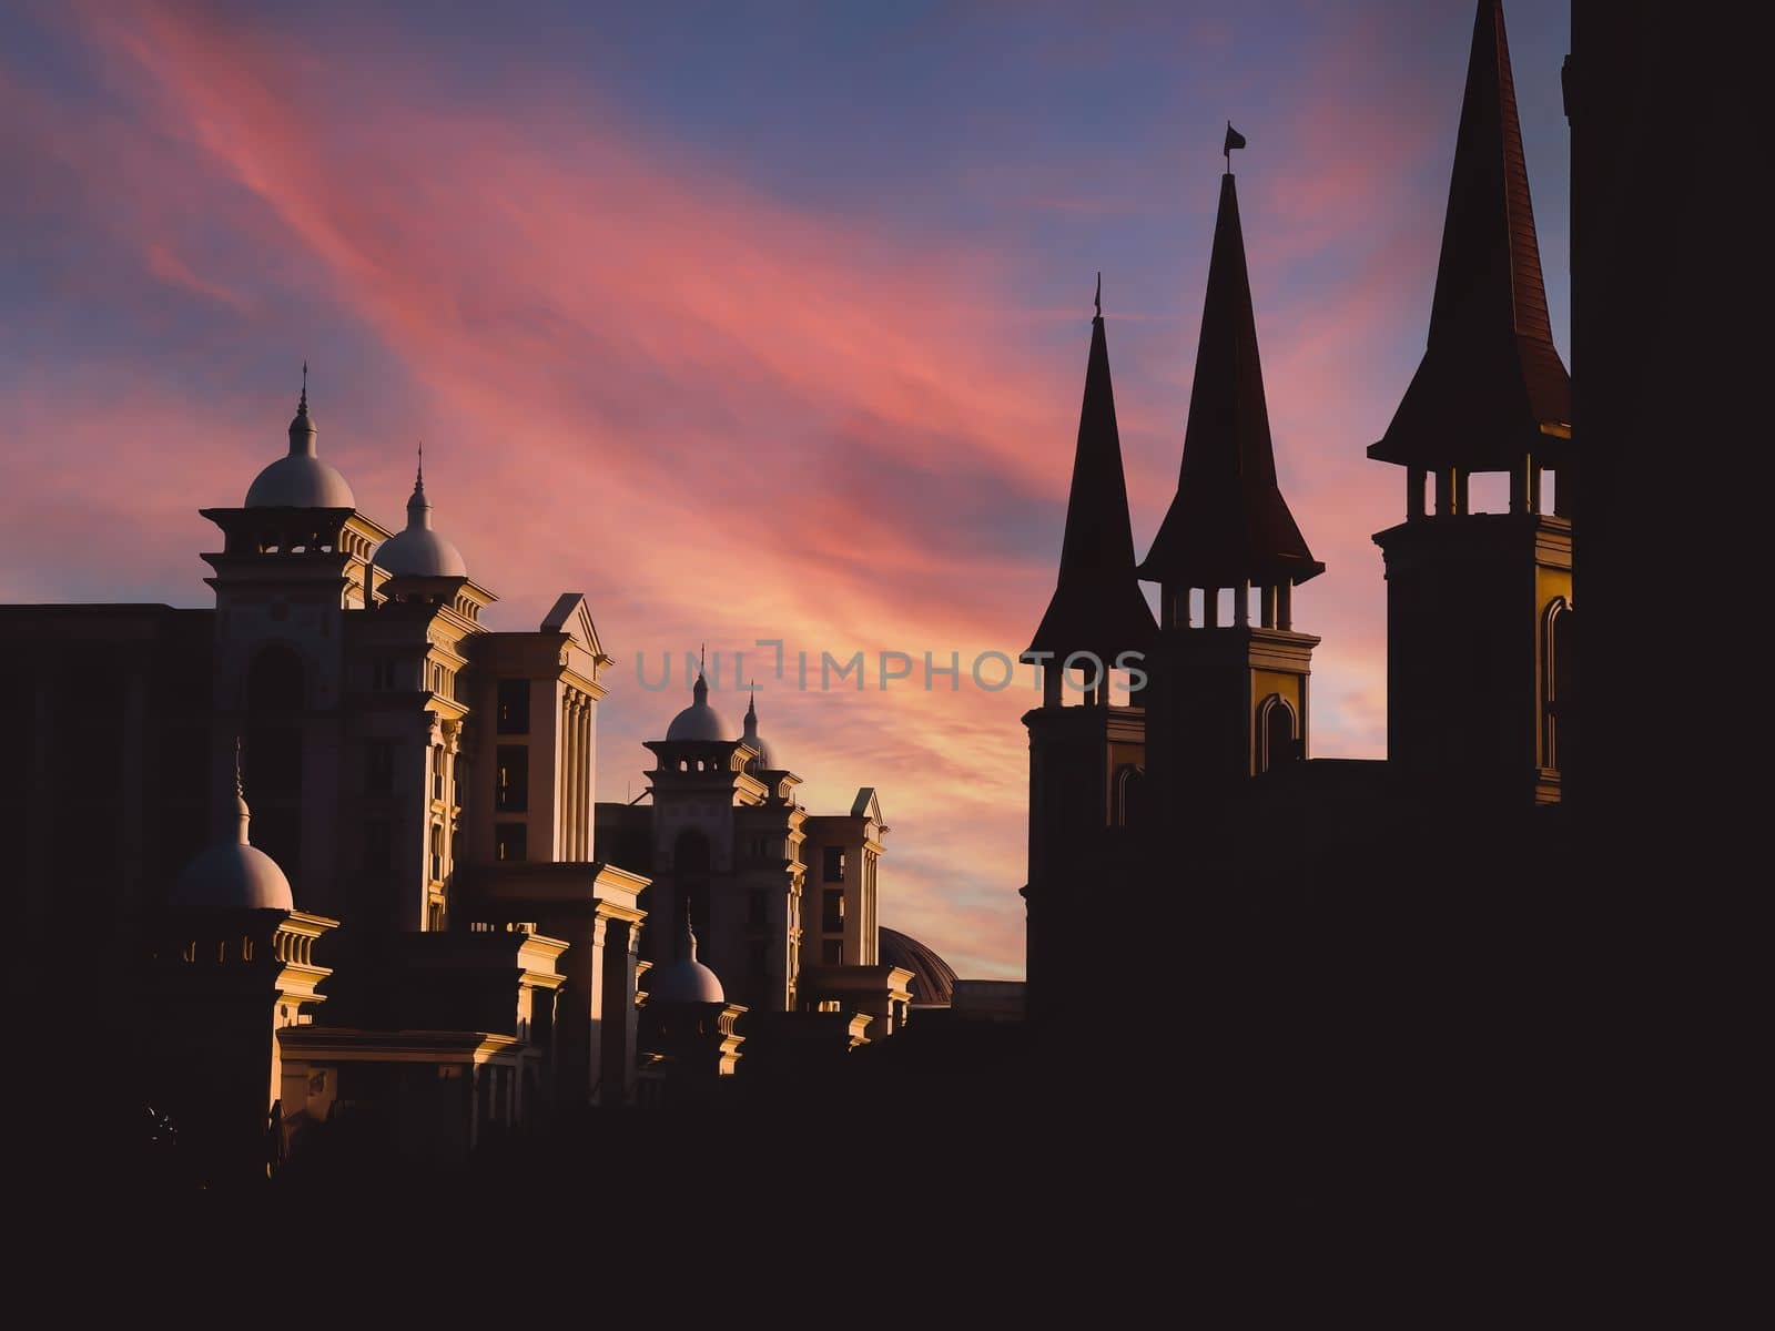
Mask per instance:
[[[1322,571],[1276,484],[1239,195],[1227,172],[1177,497],[1140,566],[1159,584],[1145,689],[1157,823],[1306,756],[1319,639],[1294,632],[1292,593]]]

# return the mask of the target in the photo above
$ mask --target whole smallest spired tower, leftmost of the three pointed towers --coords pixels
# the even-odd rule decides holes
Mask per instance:
[[[1145,777],[1145,717],[1111,706],[1109,680],[1131,681],[1152,646],[1152,610],[1134,579],[1122,437],[1109,383],[1102,287],[1092,319],[1085,401],[1072,460],[1060,577],[1022,660],[1042,669],[1042,706],[1030,729],[1030,1012],[1054,1015],[1069,957],[1076,957],[1076,891],[1085,877],[1131,866],[1131,825]],[[1065,705],[1067,685],[1079,701]],[[1131,692],[1131,701],[1140,694]]]

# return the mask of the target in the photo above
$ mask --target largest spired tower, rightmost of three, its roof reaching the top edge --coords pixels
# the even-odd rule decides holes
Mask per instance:
[[[1388,758],[1416,788],[1558,800],[1571,660],[1571,376],[1553,348],[1498,0],[1473,21],[1429,343],[1370,458],[1406,469],[1386,555]],[[1471,477],[1509,476],[1473,513]],[[1562,474],[1560,479],[1569,479]],[[1434,509],[1425,504],[1431,481]]]

